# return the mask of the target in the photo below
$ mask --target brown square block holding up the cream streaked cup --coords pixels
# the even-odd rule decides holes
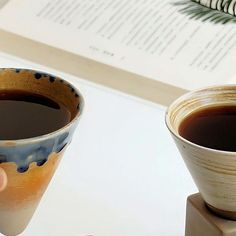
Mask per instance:
[[[199,193],[187,199],[185,236],[236,236],[236,221],[214,215]]]

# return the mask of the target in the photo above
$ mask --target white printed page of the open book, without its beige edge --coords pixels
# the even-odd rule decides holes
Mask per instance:
[[[10,0],[0,28],[184,89],[226,83],[235,24],[189,19],[177,2]]]

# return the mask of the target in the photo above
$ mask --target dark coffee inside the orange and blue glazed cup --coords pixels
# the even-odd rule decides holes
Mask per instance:
[[[70,120],[70,112],[47,97],[20,90],[0,91],[0,140],[48,134]]]

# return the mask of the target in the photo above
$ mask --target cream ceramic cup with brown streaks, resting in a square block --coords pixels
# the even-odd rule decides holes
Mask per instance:
[[[183,119],[202,108],[236,105],[236,85],[208,87],[183,95],[166,112],[166,125],[207,206],[236,220],[236,152],[199,146],[180,136]]]

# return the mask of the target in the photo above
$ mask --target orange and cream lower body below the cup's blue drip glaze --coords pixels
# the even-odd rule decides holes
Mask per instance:
[[[63,152],[52,153],[42,166],[37,166],[33,162],[24,173],[16,171],[15,163],[0,165],[8,176],[7,188],[0,193],[0,232],[2,234],[15,236],[26,228],[62,155]]]

